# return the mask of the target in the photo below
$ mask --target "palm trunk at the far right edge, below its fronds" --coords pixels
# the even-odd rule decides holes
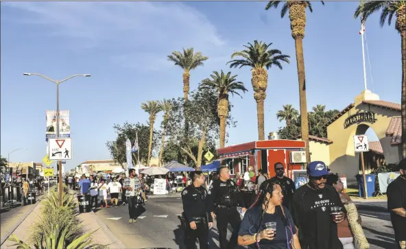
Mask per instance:
[[[401,31],[402,46],[402,97],[401,97],[401,115],[402,115],[402,157],[406,158],[406,29]]]

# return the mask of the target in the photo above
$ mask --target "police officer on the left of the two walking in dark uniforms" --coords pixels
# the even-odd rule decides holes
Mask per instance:
[[[208,211],[207,190],[202,187],[202,171],[193,172],[193,183],[182,191],[182,226],[184,226],[184,244],[187,249],[195,249],[196,238],[200,249],[208,249],[208,229],[213,226],[213,217]]]

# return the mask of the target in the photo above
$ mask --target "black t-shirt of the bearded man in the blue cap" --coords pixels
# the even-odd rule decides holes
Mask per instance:
[[[337,191],[326,185],[323,189],[312,189],[303,185],[294,193],[292,203],[294,221],[299,229],[302,248],[340,249],[337,224],[331,220],[331,207],[339,206],[346,213]]]

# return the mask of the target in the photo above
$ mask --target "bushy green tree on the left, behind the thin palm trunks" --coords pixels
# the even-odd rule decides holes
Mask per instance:
[[[126,139],[130,139],[132,145],[134,145],[136,134],[138,134],[140,161],[141,163],[146,163],[148,159],[148,145],[150,142],[150,125],[143,123],[134,124],[126,121],[123,126],[115,124],[113,128],[115,128],[115,132],[117,133],[117,139],[106,143],[111,157],[117,163],[126,163]],[[154,154],[159,143],[160,132],[154,129],[153,138],[152,152]],[[132,153],[132,160],[138,164],[138,152]]]

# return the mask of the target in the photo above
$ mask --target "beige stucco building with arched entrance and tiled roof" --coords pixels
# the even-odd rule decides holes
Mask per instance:
[[[382,163],[398,163],[400,116],[400,104],[382,101],[371,91],[363,91],[327,124],[327,138],[309,137],[311,161],[324,161],[331,171],[355,180],[361,169],[361,153],[355,152],[353,136],[372,128],[379,141],[370,142],[370,152],[363,153],[367,173]]]

